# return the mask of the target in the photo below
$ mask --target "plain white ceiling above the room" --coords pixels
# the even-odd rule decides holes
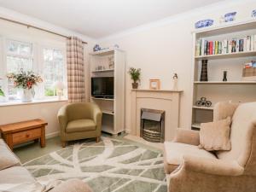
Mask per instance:
[[[222,0],[0,0],[13,9],[91,38],[103,38]]]

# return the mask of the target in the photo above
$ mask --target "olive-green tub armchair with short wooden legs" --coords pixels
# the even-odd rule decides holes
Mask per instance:
[[[94,103],[81,102],[63,106],[58,113],[61,128],[62,147],[68,141],[96,137],[100,141],[102,135],[102,111]]]

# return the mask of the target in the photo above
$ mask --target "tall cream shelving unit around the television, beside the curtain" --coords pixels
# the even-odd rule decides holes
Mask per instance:
[[[90,77],[113,77],[113,98],[91,96],[90,101],[102,109],[102,131],[113,135],[125,131],[125,52],[104,49],[90,53]]]

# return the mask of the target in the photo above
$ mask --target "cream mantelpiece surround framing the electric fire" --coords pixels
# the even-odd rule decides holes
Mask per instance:
[[[140,137],[141,108],[166,111],[165,140],[175,135],[179,123],[179,102],[183,90],[131,90],[131,131]]]

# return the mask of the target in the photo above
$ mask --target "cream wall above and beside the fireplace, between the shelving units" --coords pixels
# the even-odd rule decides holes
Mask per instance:
[[[221,15],[237,11],[236,20],[250,18],[255,1],[229,1],[197,9],[172,18],[115,34],[99,41],[103,47],[119,44],[126,51],[126,67],[142,68],[140,88],[148,88],[148,79],[159,78],[161,89],[172,89],[172,75],[178,74],[181,99],[180,126],[191,122],[192,34],[197,20],[212,18],[218,25]],[[131,125],[131,80],[126,76],[126,128]]]

